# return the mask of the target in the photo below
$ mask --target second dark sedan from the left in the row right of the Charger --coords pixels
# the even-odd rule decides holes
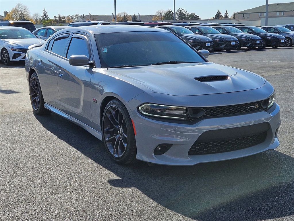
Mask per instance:
[[[202,34],[206,37],[210,37],[213,40],[213,49],[221,49],[221,50],[238,50],[239,41],[234,36],[230,36],[227,34],[221,34],[218,30],[213,27],[195,25],[195,26],[186,26],[189,30],[191,30],[195,34]]]

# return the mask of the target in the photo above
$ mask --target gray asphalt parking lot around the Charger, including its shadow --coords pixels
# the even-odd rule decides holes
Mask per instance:
[[[24,63],[0,63],[0,220],[294,220],[294,48],[208,60],[272,83],[277,149],[195,166],[117,165],[82,128],[34,115]]]

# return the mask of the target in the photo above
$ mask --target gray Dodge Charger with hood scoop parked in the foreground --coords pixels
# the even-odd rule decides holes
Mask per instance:
[[[31,105],[96,136],[119,164],[194,165],[275,149],[273,86],[208,55],[164,29],[63,29],[26,53]]]

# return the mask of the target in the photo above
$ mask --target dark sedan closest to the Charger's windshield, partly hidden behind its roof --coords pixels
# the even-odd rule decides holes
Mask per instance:
[[[208,51],[213,50],[213,41],[211,38],[194,34],[189,29],[176,25],[164,25],[157,26],[156,28],[166,29],[170,32],[177,34],[179,37],[184,39],[186,42],[192,45],[196,50],[206,49]]]

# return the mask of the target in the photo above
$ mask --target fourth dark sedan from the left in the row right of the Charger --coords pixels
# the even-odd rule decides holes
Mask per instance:
[[[265,48],[270,46],[272,48],[277,48],[280,45],[284,45],[286,38],[280,34],[268,33],[265,30],[255,27],[255,26],[237,26],[236,28],[240,29],[242,32],[248,34],[255,34],[262,39],[262,44],[259,48]]]

